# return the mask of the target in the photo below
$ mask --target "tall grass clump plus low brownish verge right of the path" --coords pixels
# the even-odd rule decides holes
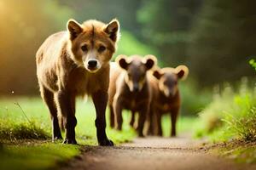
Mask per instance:
[[[243,79],[238,90],[226,85],[201,111],[198,137],[207,136],[217,144],[220,155],[239,162],[256,162],[256,91]]]

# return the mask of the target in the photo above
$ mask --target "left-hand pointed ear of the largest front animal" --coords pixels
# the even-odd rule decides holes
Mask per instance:
[[[73,40],[79,36],[79,34],[83,31],[83,28],[79,22],[71,19],[67,21],[67,31],[69,31],[70,39]]]

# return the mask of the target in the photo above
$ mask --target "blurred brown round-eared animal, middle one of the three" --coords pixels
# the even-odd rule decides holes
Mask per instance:
[[[145,57],[119,55],[116,63],[111,65],[108,90],[111,127],[114,127],[114,122],[116,122],[117,129],[121,130],[123,109],[132,112],[131,126],[134,123],[134,114],[138,112],[137,132],[139,136],[143,136],[144,122],[151,101],[151,88],[148,84],[147,73],[155,63],[156,58],[153,55]]]

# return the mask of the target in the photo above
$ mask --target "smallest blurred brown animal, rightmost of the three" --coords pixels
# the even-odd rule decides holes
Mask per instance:
[[[172,122],[171,136],[176,136],[176,122],[181,105],[177,82],[180,79],[185,79],[188,74],[189,69],[185,65],[153,71],[153,75],[149,78],[150,86],[153,88],[153,102],[149,111],[149,134],[156,133],[162,136],[161,116],[164,113],[169,113]],[[155,132],[155,128],[157,132]]]

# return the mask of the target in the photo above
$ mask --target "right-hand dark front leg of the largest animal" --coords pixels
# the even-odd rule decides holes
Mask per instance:
[[[96,133],[99,145],[112,146],[113,142],[106,134],[106,107],[108,103],[108,92],[98,91],[92,94],[92,100],[96,108]]]

